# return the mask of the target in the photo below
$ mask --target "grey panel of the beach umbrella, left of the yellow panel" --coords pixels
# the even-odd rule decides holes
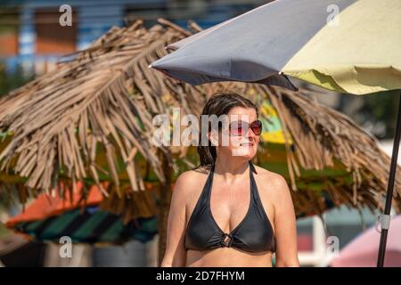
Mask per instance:
[[[341,12],[355,2],[274,1],[170,45],[178,49],[151,67],[191,85],[234,80],[294,90],[279,72],[326,25],[331,4]]]

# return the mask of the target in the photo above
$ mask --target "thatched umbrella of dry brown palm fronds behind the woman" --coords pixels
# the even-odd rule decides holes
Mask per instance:
[[[96,183],[107,198],[103,208],[127,220],[159,216],[162,256],[171,183],[191,161],[184,147],[151,142],[152,118],[173,107],[199,115],[210,94],[230,91],[255,102],[268,99],[277,111],[297,213],[325,209],[320,192],[300,191],[297,181],[303,169],[327,167],[342,167],[353,177],[321,184],[336,206],[382,207],[389,157],[372,136],[302,90],[235,82],[192,86],[148,69],[167,53],[166,45],[191,34],[166,20],[160,23],[146,29],[138,20],[128,28],[111,28],[86,50],[0,100],[0,179],[7,187],[17,185],[21,202],[39,191],[59,189],[63,196],[59,182]],[[160,181],[158,205],[143,191],[143,177]],[[103,181],[109,187],[102,187]],[[396,189],[399,210],[400,177]]]

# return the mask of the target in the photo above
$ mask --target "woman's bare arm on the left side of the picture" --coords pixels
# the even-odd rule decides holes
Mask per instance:
[[[186,173],[179,175],[174,185],[168,212],[166,252],[161,262],[161,267],[185,266],[184,231],[186,225],[186,203],[183,185],[186,176]]]

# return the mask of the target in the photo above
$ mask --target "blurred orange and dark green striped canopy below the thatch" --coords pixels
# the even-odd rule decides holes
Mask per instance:
[[[77,186],[82,191],[82,184]],[[122,244],[128,240],[151,240],[157,233],[156,217],[139,217],[124,223],[122,216],[100,208],[102,193],[93,186],[86,201],[75,193],[72,199],[47,197],[35,199],[20,215],[5,224],[31,240],[59,242],[69,236],[73,242]],[[85,202],[85,203],[82,203]]]

